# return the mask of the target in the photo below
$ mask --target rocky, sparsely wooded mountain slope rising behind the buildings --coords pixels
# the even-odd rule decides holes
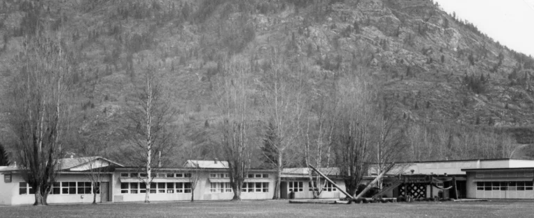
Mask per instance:
[[[179,110],[178,144],[212,158],[206,135],[220,114],[211,78],[225,59],[262,65],[273,51],[325,78],[365,69],[405,119],[431,133],[445,126],[448,144],[467,144],[469,134],[505,135],[520,145],[515,156],[534,157],[528,146],[534,143],[533,58],[429,0],[5,0],[0,13],[0,91],[17,74],[13,58],[24,33],[39,25],[60,30],[76,82],[72,124],[84,137],[106,142],[116,160],[126,143],[120,130],[127,126],[132,81],[149,63]],[[13,144],[8,114],[0,116],[0,140]],[[79,152],[79,145],[70,149]],[[186,158],[175,152],[175,161]],[[426,160],[476,156],[458,152]]]

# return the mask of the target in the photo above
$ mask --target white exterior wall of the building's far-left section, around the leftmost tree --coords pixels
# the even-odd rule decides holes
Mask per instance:
[[[35,203],[34,194],[19,194],[19,183],[24,179],[19,174],[12,174],[11,183],[0,181],[0,205],[31,205]],[[103,182],[109,177],[104,176]],[[63,174],[56,178],[57,182],[90,182],[83,174]],[[47,203],[92,203],[93,194],[49,194]],[[100,194],[97,194],[97,202]]]

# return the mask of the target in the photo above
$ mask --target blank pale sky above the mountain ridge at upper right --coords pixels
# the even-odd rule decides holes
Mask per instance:
[[[434,0],[510,49],[534,57],[534,0]]]

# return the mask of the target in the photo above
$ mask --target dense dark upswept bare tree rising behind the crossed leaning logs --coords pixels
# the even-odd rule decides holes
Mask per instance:
[[[360,76],[339,81],[334,143],[340,176],[348,194],[355,195],[371,161],[375,113],[375,93]]]

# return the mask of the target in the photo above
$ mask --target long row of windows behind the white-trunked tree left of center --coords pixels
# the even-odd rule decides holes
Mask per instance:
[[[143,194],[147,193],[145,183],[120,183],[120,193]],[[174,194],[191,193],[191,183],[150,183],[150,193]]]

